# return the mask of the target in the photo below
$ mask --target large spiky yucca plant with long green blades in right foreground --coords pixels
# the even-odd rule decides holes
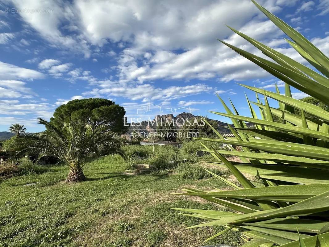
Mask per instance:
[[[225,227],[207,240],[234,230],[244,236],[245,247],[273,244],[282,247],[329,246],[329,111],[292,98],[290,90],[290,86],[295,87],[329,105],[329,59],[284,21],[252,2],[291,38],[292,41],[287,42],[316,70],[231,28],[274,62],[221,42],[284,81],[286,92],[281,95],[278,87],[274,93],[241,85],[256,93],[257,102],[250,102],[247,98],[252,117],[240,116],[233,104],[232,112],[218,96],[226,113],[212,113],[232,120],[234,126],[230,129],[235,138],[224,139],[213,128],[217,139],[197,139],[201,143],[207,141],[242,147],[242,152],[232,146],[232,151],[222,151],[203,144],[203,151],[212,153],[217,159],[217,162],[209,163],[228,168],[240,186],[213,174],[232,190],[184,188],[187,193],[176,194],[198,196],[236,212],[175,209],[208,221],[189,228]],[[264,104],[259,95],[264,96]],[[268,97],[278,101],[278,106],[270,107]],[[261,119],[257,118],[252,104],[259,108]],[[295,114],[296,109],[301,111],[301,116]],[[305,117],[305,113],[313,117]],[[279,122],[274,122],[274,115],[280,118]],[[248,128],[246,123],[255,124],[255,128]],[[242,162],[230,162],[224,154],[237,155]],[[248,180],[243,174],[259,179]]]

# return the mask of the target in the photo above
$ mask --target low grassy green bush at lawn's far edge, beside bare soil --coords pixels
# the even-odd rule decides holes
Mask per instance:
[[[224,174],[224,171],[220,169],[210,168],[207,170],[219,176],[222,176]],[[213,177],[213,175],[204,170],[203,167],[199,164],[181,163],[177,166],[176,171],[180,178],[203,179]]]

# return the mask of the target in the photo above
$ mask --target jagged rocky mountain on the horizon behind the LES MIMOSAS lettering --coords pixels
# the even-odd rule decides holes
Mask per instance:
[[[144,120],[141,121],[140,123],[131,123],[129,126],[129,130],[125,133],[125,136],[130,136],[130,134],[133,131],[139,132],[139,133],[148,133],[148,132],[153,132],[155,129],[158,128],[159,125],[164,126],[165,123],[171,123],[173,120],[174,123],[174,128],[179,129],[182,127],[184,122],[186,122],[188,119],[190,121],[193,121],[193,119],[198,118],[201,119],[201,116],[195,116],[191,113],[180,113],[177,116],[174,117],[172,114],[165,114],[165,115],[157,115],[153,120]],[[217,131],[221,134],[225,133],[231,133],[231,131],[223,126],[227,126],[227,123],[214,120],[217,122]],[[161,124],[162,123],[162,124]]]

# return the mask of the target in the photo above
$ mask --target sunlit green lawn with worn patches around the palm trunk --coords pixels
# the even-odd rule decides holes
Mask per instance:
[[[214,209],[212,204],[170,195],[185,185],[224,186],[215,178],[195,181],[177,175],[124,175],[118,157],[85,167],[87,181],[63,182],[67,169],[0,183],[0,246],[201,246],[221,228],[185,230],[201,221],[169,207]],[[36,185],[23,186],[38,182]],[[124,227],[124,223],[128,226]],[[240,246],[229,232],[211,243]]]

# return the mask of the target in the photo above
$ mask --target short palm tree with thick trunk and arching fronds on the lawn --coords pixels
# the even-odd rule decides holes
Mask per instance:
[[[90,158],[99,158],[110,153],[124,157],[120,149],[120,136],[110,131],[110,126],[100,124],[95,127],[85,124],[64,124],[58,128],[48,121],[38,118],[38,123],[46,128],[41,133],[27,133],[15,136],[12,158],[20,158],[26,153],[37,153],[38,158],[56,156],[69,166],[66,181],[85,180],[83,166]]]

